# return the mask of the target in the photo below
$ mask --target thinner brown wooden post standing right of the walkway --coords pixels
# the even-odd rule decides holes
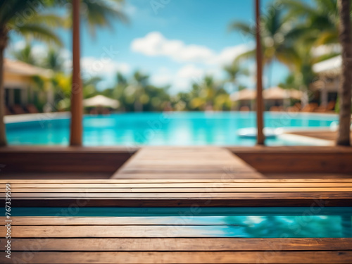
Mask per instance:
[[[257,144],[264,145],[263,134],[263,58],[260,39],[260,0],[256,0],[256,61],[257,61]]]

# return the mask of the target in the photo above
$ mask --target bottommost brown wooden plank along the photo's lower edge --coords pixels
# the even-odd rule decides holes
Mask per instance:
[[[1,263],[352,263],[352,251],[234,251],[234,252],[13,252]]]

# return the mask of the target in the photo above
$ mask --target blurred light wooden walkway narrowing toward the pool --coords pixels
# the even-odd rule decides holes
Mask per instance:
[[[145,147],[137,151],[115,179],[253,179],[263,178],[227,149],[199,147]]]

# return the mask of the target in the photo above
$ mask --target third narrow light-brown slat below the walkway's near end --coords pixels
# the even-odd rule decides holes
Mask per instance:
[[[277,192],[343,192],[351,191],[352,187],[307,187],[307,188],[11,188],[11,193],[277,193]],[[1,193],[5,189],[0,188]]]

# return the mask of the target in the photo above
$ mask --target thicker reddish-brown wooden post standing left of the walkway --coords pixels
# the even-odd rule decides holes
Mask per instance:
[[[80,0],[72,0],[73,74],[71,92],[70,146],[82,146],[83,93],[80,77]]]

